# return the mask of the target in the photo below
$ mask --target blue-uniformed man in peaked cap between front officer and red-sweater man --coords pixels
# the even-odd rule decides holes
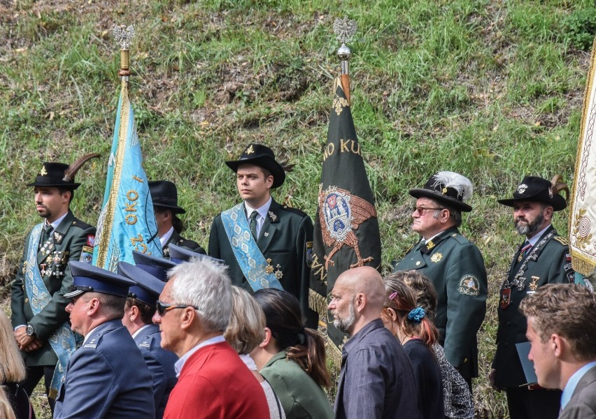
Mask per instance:
[[[122,324],[132,335],[147,362],[153,379],[155,418],[162,419],[170,392],[176,385],[174,364],[178,360],[175,353],[161,347],[159,325],[151,321],[155,314],[155,303],[166,283],[126,262],[118,263],[118,274],[136,282],[129,288]]]

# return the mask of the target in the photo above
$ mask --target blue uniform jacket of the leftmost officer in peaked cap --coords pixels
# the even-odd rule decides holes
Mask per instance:
[[[151,376],[120,320],[99,325],[73,353],[54,419],[155,416]]]

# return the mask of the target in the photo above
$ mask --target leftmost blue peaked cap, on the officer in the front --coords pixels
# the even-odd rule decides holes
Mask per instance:
[[[128,278],[85,262],[72,260],[69,262],[73,285],[71,292],[64,294],[66,298],[77,297],[86,292],[118,295],[126,297],[129,286],[134,284]]]

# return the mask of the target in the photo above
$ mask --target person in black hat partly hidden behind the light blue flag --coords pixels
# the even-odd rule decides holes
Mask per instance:
[[[205,254],[205,249],[199,243],[180,236],[180,233],[184,230],[184,224],[178,218],[178,214],[184,214],[186,211],[183,207],[178,207],[178,189],[176,189],[176,185],[169,182],[169,180],[152,180],[149,181],[149,193],[153,201],[157,234],[159,235],[159,242],[162,244],[164,258],[170,257],[170,243]]]

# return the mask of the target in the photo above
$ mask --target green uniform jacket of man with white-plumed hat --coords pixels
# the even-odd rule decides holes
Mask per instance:
[[[437,290],[439,340],[447,360],[469,380],[478,376],[476,333],[486,313],[487,281],[478,247],[456,227],[434,237],[432,244],[411,249],[394,265],[398,270],[420,270]]]

